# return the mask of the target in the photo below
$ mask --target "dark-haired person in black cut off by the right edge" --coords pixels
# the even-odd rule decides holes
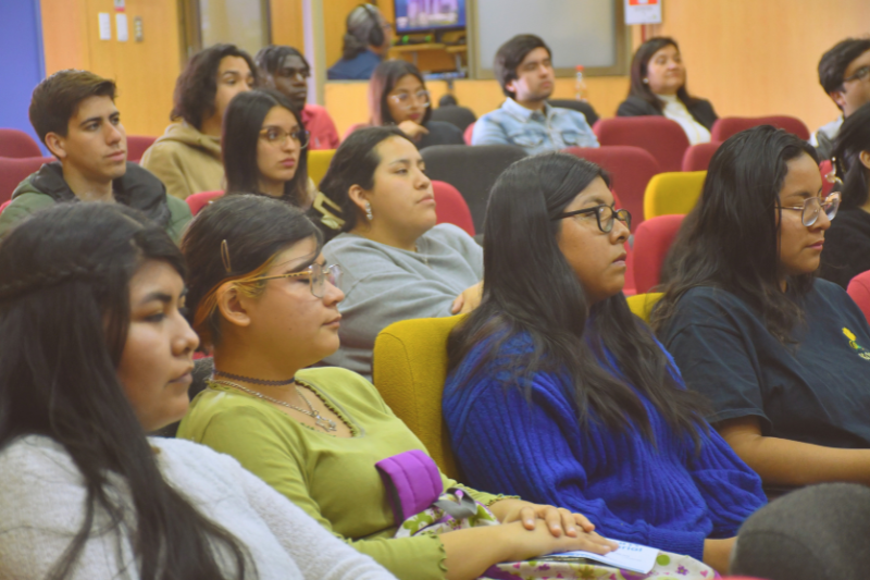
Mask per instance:
[[[870,103],[852,113],[837,133],[834,171],[843,180],[843,202],[824,234],[820,276],[847,287],[870,270]]]

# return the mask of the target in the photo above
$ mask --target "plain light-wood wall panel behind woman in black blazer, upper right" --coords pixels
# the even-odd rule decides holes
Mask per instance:
[[[674,37],[688,88],[720,116],[788,114],[810,131],[838,114],[819,85],[822,53],[870,34],[867,0],[667,0],[650,33]]]

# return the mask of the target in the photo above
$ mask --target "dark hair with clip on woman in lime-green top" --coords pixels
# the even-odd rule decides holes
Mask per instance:
[[[318,243],[313,262],[323,247],[318,227],[298,208],[269,196],[224,196],[197,214],[182,240],[182,254],[190,271],[187,308],[204,346],[221,342],[221,313],[209,306],[203,310],[207,296],[224,282],[268,270],[278,254],[308,237]],[[264,287],[258,283],[252,294]]]

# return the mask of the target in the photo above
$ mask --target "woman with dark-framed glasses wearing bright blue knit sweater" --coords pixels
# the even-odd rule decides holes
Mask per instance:
[[[761,481],[622,295],[631,217],[564,153],[496,183],[481,306],[449,341],[444,416],[468,483],[583,513],[721,572]]]

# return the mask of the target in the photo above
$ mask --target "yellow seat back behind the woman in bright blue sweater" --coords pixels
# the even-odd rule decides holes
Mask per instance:
[[[442,417],[447,379],[447,337],[464,317],[395,322],[374,342],[372,379],[393,412],[423,442],[449,478],[458,479]]]

